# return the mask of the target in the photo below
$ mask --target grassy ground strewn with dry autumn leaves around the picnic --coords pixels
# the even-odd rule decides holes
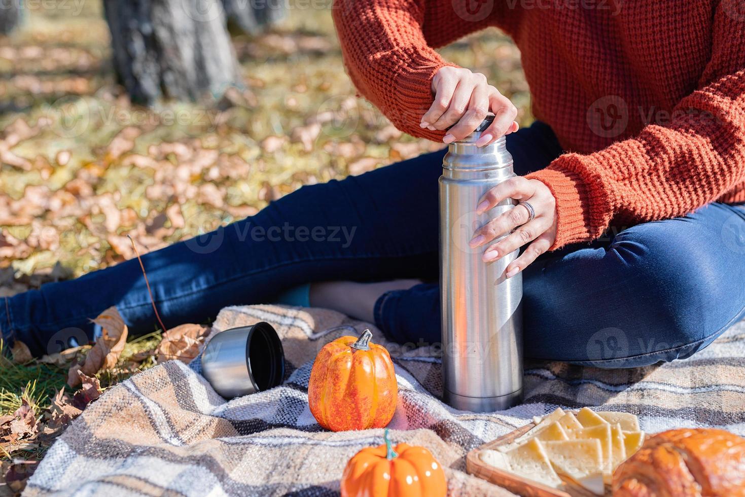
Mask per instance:
[[[304,184],[440,148],[355,97],[329,3],[290,0],[262,32],[233,19],[237,84],[206,100],[140,98],[149,104],[140,107],[116,76],[101,0],[26,0],[19,25],[0,36],[0,297],[130,259],[127,234],[140,252],[156,250]],[[484,31],[441,52],[484,72],[530,124],[519,51],[507,37]],[[77,407],[155,364],[161,339],[156,331],[127,344],[118,369],[87,384]],[[13,352],[0,361],[0,492],[11,493],[58,434],[44,423],[80,393],[65,387],[66,367],[86,347],[45,361]],[[19,420],[25,428],[13,431]]]

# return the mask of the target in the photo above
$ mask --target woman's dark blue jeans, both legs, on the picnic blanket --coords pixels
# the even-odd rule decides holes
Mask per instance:
[[[507,136],[517,174],[562,150],[542,123]],[[432,281],[391,291],[375,321],[399,343],[440,341],[438,186],[444,151],[345,180],[305,186],[251,218],[142,257],[165,326],[224,306],[271,302],[335,279]],[[637,367],[685,358],[744,315],[745,208],[613,226],[592,244],[548,253],[524,272],[529,358]],[[133,334],[155,329],[136,260],[49,283],[0,303],[0,329],[35,354],[95,338],[89,318],[117,306]]]

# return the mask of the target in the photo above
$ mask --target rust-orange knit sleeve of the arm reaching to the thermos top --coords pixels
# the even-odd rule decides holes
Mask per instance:
[[[434,98],[431,80],[447,63],[428,44],[425,0],[335,0],[334,22],[349,77],[399,130],[441,141],[419,121]]]

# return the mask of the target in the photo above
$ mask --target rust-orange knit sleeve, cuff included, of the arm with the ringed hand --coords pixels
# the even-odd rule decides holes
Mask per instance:
[[[611,220],[688,214],[745,181],[745,36],[724,3],[714,12],[699,88],[676,105],[668,125],[648,124],[633,139],[588,155],[566,153],[527,176],[557,200],[551,250],[597,238]]]

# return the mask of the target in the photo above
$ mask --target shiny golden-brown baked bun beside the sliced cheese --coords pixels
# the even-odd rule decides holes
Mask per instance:
[[[647,438],[613,473],[618,497],[745,497],[745,438],[683,428]]]

